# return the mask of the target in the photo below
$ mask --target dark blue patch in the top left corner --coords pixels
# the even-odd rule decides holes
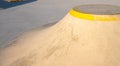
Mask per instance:
[[[34,2],[34,1],[37,1],[37,0],[25,0],[25,1],[22,1],[22,2],[6,2],[4,0],[0,0],[0,8],[1,9],[7,9],[7,8],[15,7],[15,6],[20,6],[20,5],[23,5],[23,4],[28,4],[28,3],[31,3],[31,2]]]

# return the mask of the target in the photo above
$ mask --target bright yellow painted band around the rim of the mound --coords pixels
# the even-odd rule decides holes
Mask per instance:
[[[75,11],[74,9],[71,9],[69,13],[74,17],[85,19],[85,20],[93,20],[93,21],[118,21],[120,20],[120,17],[116,15],[86,14],[86,13]]]

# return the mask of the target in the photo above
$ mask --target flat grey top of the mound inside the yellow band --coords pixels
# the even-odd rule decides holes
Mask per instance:
[[[73,10],[94,15],[118,15],[120,6],[109,4],[87,4],[75,6]]]

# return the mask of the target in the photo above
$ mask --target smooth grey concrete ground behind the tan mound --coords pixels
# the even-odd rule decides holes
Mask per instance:
[[[83,4],[119,5],[120,0],[38,0],[0,10],[0,48],[32,28],[59,21],[68,11]]]

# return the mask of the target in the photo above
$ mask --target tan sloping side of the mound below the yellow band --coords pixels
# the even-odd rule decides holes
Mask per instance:
[[[55,25],[26,32],[2,49],[0,66],[120,66],[119,51],[119,20],[92,21],[68,13]]]

